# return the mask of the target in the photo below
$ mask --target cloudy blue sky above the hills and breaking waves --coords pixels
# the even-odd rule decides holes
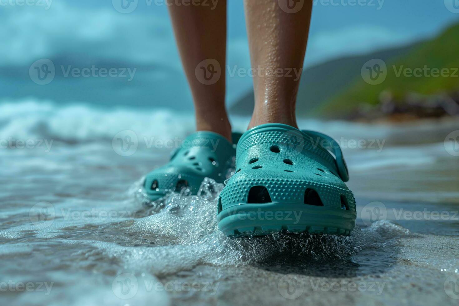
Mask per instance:
[[[28,1],[0,0],[0,100],[191,109],[165,0],[133,0],[130,13],[120,12],[121,0]],[[459,22],[457,7],[459,0],[313,0],[305,66],[429,39]],[[227,65],[250,68],[242,0],[228,0],[228,14]],[[27,74],[40,59],[137,69],[129,82],[61,75],[40,87]],[[252,88],[249,77],[227,79],[229,103]]]

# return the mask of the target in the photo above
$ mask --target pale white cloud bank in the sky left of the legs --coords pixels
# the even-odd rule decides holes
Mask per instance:
[[[0,65],[39,58],[108,59],[138,63],[178,59],[167,14],[121,14],[105,6],[71,6],[53,1],[45,10],[2,6]],[[177,61],[171,66],[180,69]]]

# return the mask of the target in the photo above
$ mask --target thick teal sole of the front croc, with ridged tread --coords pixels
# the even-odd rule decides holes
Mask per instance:
[[[356,212],[298,203],[242,203],[221,211],[218,228],[227,236],[265,236],[279,232],[349,236]]]

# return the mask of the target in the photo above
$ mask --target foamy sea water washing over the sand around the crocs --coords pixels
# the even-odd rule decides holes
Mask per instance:
[[[459,163],[445,141],[457,120],[301,122],[344,147],[349,237],[227,238],[210,179],[148,202],[143,176],[193,125],[169,111],[0,104],[1,304],[457,305]]]

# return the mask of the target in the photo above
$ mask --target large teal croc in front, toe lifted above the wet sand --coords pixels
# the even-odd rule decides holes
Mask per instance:
[[[347,166],[329,136],[278,123],[257,126],[239,140],[236,169],[218,197],[218,228],[226,235],[353,230]]]

